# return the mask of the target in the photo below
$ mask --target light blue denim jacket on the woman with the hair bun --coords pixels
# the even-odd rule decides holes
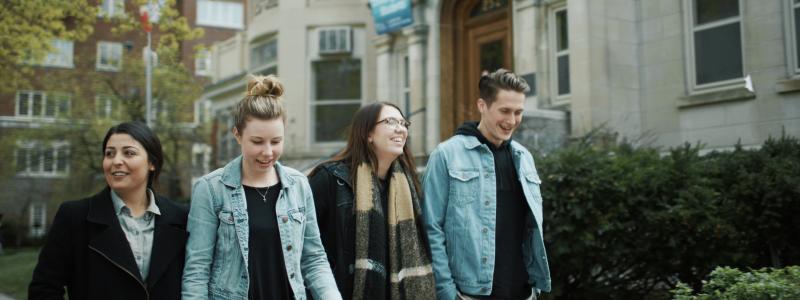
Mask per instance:
[[[275,210],[286,274],[296,299],[306,286],[316,299],[341,299],[320,241],[306,176],[275,164],[283,188]],[[192,188],[183,299],[247,299],[249,228],[242,157],[198,180]]]

